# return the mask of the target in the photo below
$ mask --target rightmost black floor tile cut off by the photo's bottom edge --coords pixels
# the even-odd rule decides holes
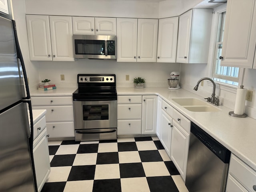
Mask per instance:
[[[147,177],[150,192],[179,192],[171,176]]]

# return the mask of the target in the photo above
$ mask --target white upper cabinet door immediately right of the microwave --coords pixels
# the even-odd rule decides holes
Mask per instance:
[[[117,18],[117,62],[136,62],[138,19]]]

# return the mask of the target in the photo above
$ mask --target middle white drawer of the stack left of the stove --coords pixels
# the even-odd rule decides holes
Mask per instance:
[[[33,106],[33,109],[46,109],[46,122],[73,121],[73,106]]]

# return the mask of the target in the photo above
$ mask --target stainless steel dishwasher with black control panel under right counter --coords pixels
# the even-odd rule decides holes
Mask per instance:
[[[224,192],[230,151],[191,122],[186,170],[189,192]]]

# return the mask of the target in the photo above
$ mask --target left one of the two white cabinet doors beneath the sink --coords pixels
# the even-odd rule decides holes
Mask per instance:
[[[170,156],[172,138],[172,118],[162,110],[161,116],[161,136],[160,141],[167,154]]]

